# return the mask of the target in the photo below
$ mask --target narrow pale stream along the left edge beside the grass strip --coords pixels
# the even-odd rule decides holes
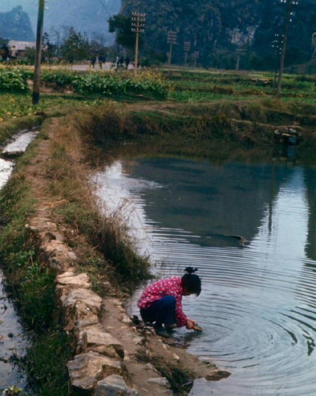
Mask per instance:
[[[21,131],[1,151],[23,152],[38,134],[36,130]],[[8,181],[14,162],[0,158],[0,189]],[[0,263],[1,268],[1,263]],[[15,356],[23,356],[27,345],[23,329],[16,316],[12,302],[3,288],[3,274],[0,272],[0,393],[12,385],[25,389],[26,374],[15,364]]]

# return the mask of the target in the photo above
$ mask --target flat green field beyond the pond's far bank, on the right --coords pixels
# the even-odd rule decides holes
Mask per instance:
[[[166,73],[166,72],[164,72]],[[173,84],[169,99],[178,102],[213,100],[256,100],[274,97],[274,76],[271,73],[246,73],[172,69],[166,77]],[[306,78],[284,75],[281,100],[292,99],[315,102],[315,76]]]

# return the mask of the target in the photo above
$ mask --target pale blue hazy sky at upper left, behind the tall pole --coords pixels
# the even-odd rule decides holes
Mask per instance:
[[[36,32],[38,5],[35,0],[0,0],[0,4],[1,11],[9,11],[13,6],[22,5]],[[86,32],[89,37],[94,32],[104,34],[107,44],[114,41],[114,35],[108,32],[107,21],[110,15],[118,13],[120,0],[48,0],[45,5],[48,7],[44,16],[45,32],[49,33],[54,27],[61,30],[62,35],[62,26],[73,26],[82,33]]]

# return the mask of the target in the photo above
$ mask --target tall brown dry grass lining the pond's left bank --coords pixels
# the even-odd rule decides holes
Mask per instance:
[[[112,114],[111,109],[108,111]],[[68,116],[54,134],[46,177],[50,180],[48,193],[62,203],[53,211],[76,231],[77,240],[84,237],[94,250],[104,255],[103,262],[99,256],[91,261],[91,256],[84,255],[86,261],[96,263],[100,273],[112,274],[116,283],[136,282],[149,276],[149,262],[137,253],[136,244],[119,216],[104,214],[94,194],[95,187],[89,182],[91,169],[86,148],[91,139],[88,139],[91,121],[97,125],[98,118],[90,112]]]

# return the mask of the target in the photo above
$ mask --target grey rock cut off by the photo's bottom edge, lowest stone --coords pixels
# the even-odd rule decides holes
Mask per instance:
[[[127,388],[120,375],[110,375],[97,384],[96,396],[138,396],[136,389]]]

